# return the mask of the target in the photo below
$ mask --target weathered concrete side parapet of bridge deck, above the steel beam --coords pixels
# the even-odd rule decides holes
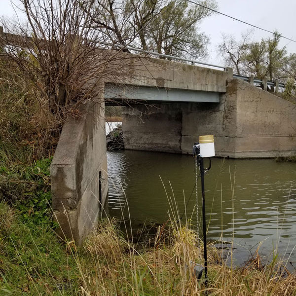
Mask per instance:
[[[196,90],[207,92],[226,92],[227,72],[198,67],[184,63],[154,58],[143,58],[126,54],[124,60],[128,67],[125,79],[108,77],[105,83],[133,86],[161,87],[169,89]]]

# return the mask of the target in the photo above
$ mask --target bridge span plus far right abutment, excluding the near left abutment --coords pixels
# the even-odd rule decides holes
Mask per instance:
[[[217,156],[295,154],[296,105],[250,80],[233,78],[231,68],[148,59],[124,86],[106,81],[105,102],[128,102],[122,123],[127,149],[191,153],[199,135],[213,134]]]

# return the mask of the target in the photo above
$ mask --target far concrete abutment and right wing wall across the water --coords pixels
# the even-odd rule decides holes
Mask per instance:
[[[192,153],[199,135],[213,134],[217,156],[287,156],[296,154],[296,105],[229,79],[219,104],[126,107],[123,131],[129,149]]]

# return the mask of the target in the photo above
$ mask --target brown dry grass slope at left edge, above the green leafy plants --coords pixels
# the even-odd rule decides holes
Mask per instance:
[[[0,59],[0,166],[50,157],[60,128],[34,83]]]

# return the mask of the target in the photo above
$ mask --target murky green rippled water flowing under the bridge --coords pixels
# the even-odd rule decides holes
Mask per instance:
[[[187,219],[192,216],[196,225],[192,156],[126,150],[108,152],[107,157],[112,216],[121,218],[123,211],[128,217],[127,200],[134,227],[147,220],[165,222],[170,209],[167,191],[175,197],[180,216],[188,202]],[[295,163],[214,158],[205,188],[208,238],[216,240],[222,234],[225,241],[231,241],[234,235],[237,263],[248,259],[250,250],[254,253],[261,241],[261,254],[270,255],[278,245],[282,255],[296,261]],[[200,180],[198,189],[201,212]]]

